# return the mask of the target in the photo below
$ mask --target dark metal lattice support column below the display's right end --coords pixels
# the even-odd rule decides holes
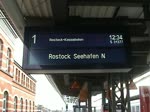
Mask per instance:
[[[109,112],[116,112],[117,109],[121,110],[121,112],[125,112],[125,111],[130,112],[131,107],[130,107],[130,93],[129,93],[128,80],[129,80],[128,74],[108,75]],[[124,82],[126,84],[126,86],[125,86],[126,88],[123,87]],[[119,84],[120,84],[120,86],[119,86]],[[125,90],[127,90],[126,98],[124,98]],[[121,96],[118,96],[117,93],[120,93]],[[126,99],[126,101],[125,101],[125,99]],[[120,107],[120,105],[121,105],[121,107]]]

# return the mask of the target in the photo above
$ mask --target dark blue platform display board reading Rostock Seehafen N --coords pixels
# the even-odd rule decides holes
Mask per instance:
[[[129,68],[129,43],[124,27],[26,27],[23,68]]]

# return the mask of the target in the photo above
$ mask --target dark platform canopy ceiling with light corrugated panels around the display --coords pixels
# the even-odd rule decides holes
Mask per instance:
[[[1,0],[0,9],[24,40],[25,26],[57,26],[66,24],[105,25],[125,24],[131,36],[133,77],[149,69],[150,54],[150,1],[149,0]],[[150,59],[149,59],[150,60]],[[81,85],[90,81],[94,92],[111,73],[49,73],[61,94],[76,96],[65,84],[76,79]],[[113,73],[114,74],[114,73]]]

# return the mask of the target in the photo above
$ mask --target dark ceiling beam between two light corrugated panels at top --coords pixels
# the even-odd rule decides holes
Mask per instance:
[[[67,0],[51,0],[55,24],[64,24],[69,15]]]

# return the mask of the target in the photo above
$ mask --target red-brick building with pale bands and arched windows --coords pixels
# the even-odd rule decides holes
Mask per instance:
[[[36,80],[14,61],[14,50],[0,34],[0,111],[33,112]]]

